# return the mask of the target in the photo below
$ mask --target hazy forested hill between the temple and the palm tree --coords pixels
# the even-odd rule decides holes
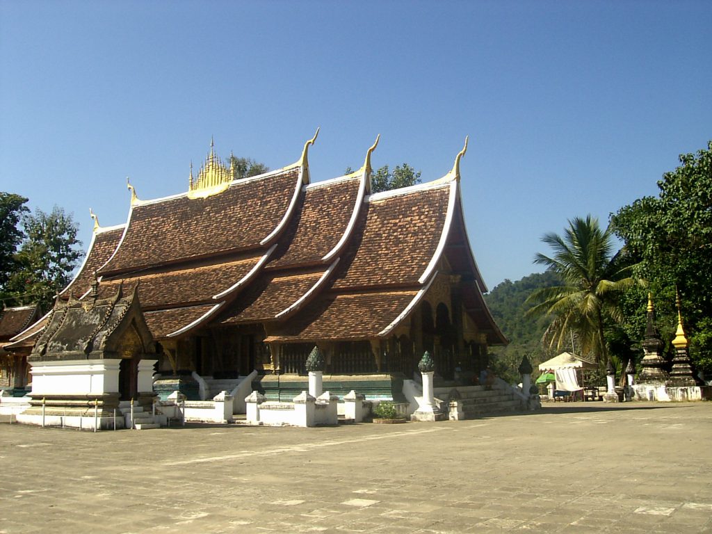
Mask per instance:
[[[510,341],[507,347],[493,347],[491,353],[496,357],[496,372],[504,379],[518,379],[516,367],[526,353],[534,368],[540,362],[555,355],[555,350],[543,347],[541,337],[549,319],[533,318],[525,314],[531,307],[525,303],[528,296],[539,288],[561,285],[559,276],[551,271],[525,276],[519,281],[505,280],[485,295],[494,320]]]

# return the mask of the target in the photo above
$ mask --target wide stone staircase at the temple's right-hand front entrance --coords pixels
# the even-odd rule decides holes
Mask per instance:
[[[476,419],[521,409],[521,400],[514,392],[498,385],[493,385],[491,389],[485,386],[458,387],[443,397],[438,392],[435,396],[448,399],[451,420]]]

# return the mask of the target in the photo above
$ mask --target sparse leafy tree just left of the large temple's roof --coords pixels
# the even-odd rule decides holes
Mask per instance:
[[[41,209],[26,214],[22,224],[27,239],[15,256],[19,267],[9,287],[19,303],[38,303],[48,309],[83,256],[78,226],[57,206],[49,214]]]

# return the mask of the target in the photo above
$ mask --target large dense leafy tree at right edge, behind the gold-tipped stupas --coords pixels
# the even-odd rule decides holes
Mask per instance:
[[[653,295],[664,341],[677,324],[677,286],[692,360],[712,373],[712,141],[696,155],[681,155],[680,162],[663,174],[658,197],[622,207],[611,224]],[[642,336],[642,323],[627,323],[627,330]]]

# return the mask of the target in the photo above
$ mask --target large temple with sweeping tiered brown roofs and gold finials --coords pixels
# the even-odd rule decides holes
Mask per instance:
[[[157,360],[157,376],[184,382],[193,373],[256,370],[255,389],[279,398],[304,389],[305,362],[317,345],[325,382],[343,392],[359,381],[396,391],[424,351],[436,379],[471,383],[487,365],[488,346],[507,340],[483,300],[466,232],[460,159],[467,145],[444,176],[373,193],[377,141],[356,172],[312,182],[316,137],[294,164],[259,176],[236,179],[211,143],[199,171],[191,165],[187,173],[187,192],[144,200],[128,184],[125,224],[102,227],[92,214],[83,266],[55,310],[26,331],[24,339],[37,343],[31,365],[146,355]],[[132,310],[133,330],[110,318],[112,303]],[[87,332],[90,324],[108,328],[107,336],[117,332],[117,346],[135,331],[142,348],[78,349],[58,359],[53,346],[73,345],[57,337],[71,337],[70,317]],[[145,394],[127,384],[136,372],[116,369],[122,398]]]

